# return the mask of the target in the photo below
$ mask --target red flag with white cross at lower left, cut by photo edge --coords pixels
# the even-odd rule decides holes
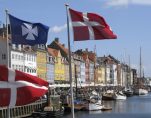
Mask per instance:
[[[0,65],[0,107],[32,103],[46,94],[47,87],[47,81]]]

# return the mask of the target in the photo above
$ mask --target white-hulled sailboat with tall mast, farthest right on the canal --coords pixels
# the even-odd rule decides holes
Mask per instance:
[[[145,89],[142,80],[144,79],[144,76],[142,77],[142,57],[141,57],[141,47],[140,47],[140,77],[137,78],[137,85],[134,87],[134,94],[135,95],[146,95],[148,94],[147,89]]]

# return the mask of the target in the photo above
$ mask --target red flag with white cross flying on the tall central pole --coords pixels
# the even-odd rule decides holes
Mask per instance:
[[[69,8],[74,33],[74,41],[116,39],[102,16],[82,13]]]

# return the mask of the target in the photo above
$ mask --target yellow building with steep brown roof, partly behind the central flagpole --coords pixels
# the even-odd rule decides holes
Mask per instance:
[[[62,80],[65,83],[70,80],[69,78],[69,60],[68,60],[68,49],[64,44],[59,42],[59,38],[56,38],[50,45],[49,48],[56,49],[59,51],[56,62],[55,62],[55,80]],[[74,81],[74,60],[72,59],[72,79]],[[64,83],[63,82],[63,83]]]

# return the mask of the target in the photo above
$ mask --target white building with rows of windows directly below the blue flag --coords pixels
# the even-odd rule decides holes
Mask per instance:
[[[30,46],[12,44],[10,67],[31,75],[37,75],[36,54]]]

